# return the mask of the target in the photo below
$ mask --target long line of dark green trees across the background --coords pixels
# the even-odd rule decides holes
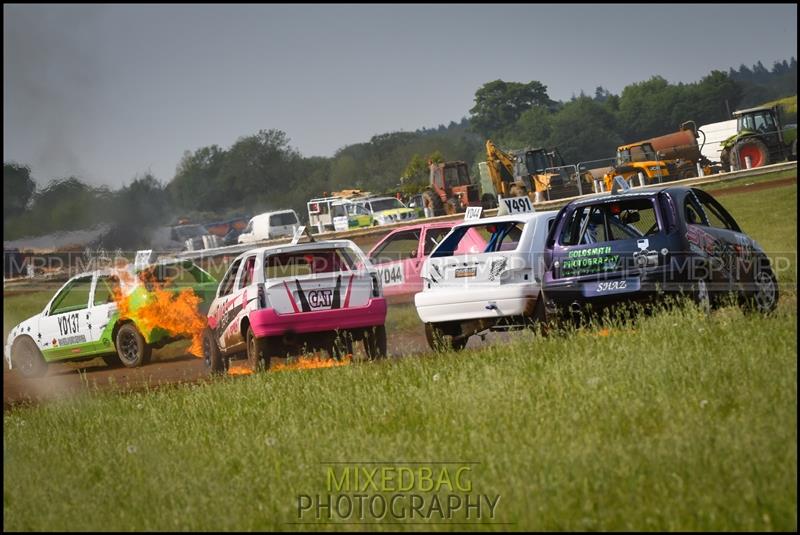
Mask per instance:
[[[348,145],[332,157],[305,157],[285,132],[264,129],[218,145],[186,151],[166,183],[147,173],[118,190],[92,187],[80,177],[38,186],[31,169],[3,166],[4,239],[107,223],[106,247],[143,247],[147,230],[180,217],[202,222],[294,208],[340,189],[413,191],[427,181],[429,160],[463,160],[477,180],[487,138],[504,149],[558,147],[567,163],[613,156],[618,145],[666,134],[681,122],[729,118],[729,111],[796,94],[797,62],[761,63],[712,71],[694,83],[660,76],[626,86],[619,95],[555,101],[540,81],[494,80],[475,92],[469,116],[414,132],[390,132]]]

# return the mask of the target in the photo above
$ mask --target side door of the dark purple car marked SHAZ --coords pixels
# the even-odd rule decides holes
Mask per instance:
[[[716,199],[703,190],[693,192],[703,207],[708,232],[718,240],[715,254],[721,260],[720,279],[727,283],[727,290],[734,290],[737,284],[752,278],[755,244]]]

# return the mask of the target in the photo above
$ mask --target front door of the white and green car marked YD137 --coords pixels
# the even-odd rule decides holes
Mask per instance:
[[[93,351],[88,311],[92,283],[92,275],[71,279],[42,314],[37,341],[46,360],[77,357]]]

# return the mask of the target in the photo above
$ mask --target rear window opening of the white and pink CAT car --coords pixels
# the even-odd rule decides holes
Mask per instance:
[[[264,259],[264,277],[280,279],[319,273],[352,271],[356,263],[352,253],[343,248],[299,250],[272,254]]]

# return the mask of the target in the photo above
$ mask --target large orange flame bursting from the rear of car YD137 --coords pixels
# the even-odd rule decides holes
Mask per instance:
[[[133,275],[129,271],[119,270],[118,274],[122,284],[134,282]],[[145,279],[145,276],[142,278]],[[117,303],[120,318],[133,319],[143,333],[161,328],[170,336],[191,338],[189,353],[202,357],[203,329],[207,325],[207,319],[199,311],[200,297],[191,288],[184,288],[174,293],[165,290],[163,285],[152,278],[147,282],[152,285],[152,290],[143,304],[134,305],[131,302],[135,294],[125,295],[119,288],[114,291],[114,301]]]

